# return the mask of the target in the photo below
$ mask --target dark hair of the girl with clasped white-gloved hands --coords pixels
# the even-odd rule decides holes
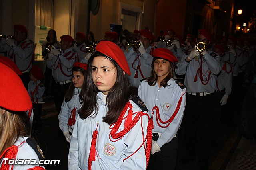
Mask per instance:
[[[157,83],[158,76],[156,75],[156,73],[154,71],[154,62],[156,61],[156,59],[161,59],[161,58],[158,58],[158,57],[153,58],[153,61],[151,63],[151,67],[153,70],[152,76],[146,78],[146,82],[148,82],[148,85],[150,85],[150,86],[154,86]],[[164,87],[168,86],[168,81],[173,77],[173,73],[174,73],[174,66],[173,66],[172,62],[170,62],[169,60],[166,60],[166,61],[168,61],[170,63],[170,71],[169,71],[169,74],[166,76],[166,78],[164,78],[162,80],[162,82],[160,83],[160,86],[164,86]]]

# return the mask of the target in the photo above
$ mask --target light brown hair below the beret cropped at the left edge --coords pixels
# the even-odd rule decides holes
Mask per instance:
[[[0,155],[4,150],[26,136],[25,113],[9,112],[0,107]]]

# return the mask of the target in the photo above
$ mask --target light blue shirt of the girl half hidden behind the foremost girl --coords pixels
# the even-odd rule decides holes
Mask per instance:
[[[68,127],[70,127],[71,129],[74,128],[74,125],[68,126],[68,119],[70,118],[71,111],[74,108],[76,108],[76,118],[78,116],[78,110],[80,109],[82,102],[79,98],[80,92],[80,88],[75,88],[74,96],[71,98],[70,101],[65,102],[64,98],[64,101],[61,105],[60,114],[58,115],[59,127],[62,132],[68,131]]]

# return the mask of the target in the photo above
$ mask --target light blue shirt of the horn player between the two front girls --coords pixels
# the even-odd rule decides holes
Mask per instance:
[[[129,65],[129,68],[130,68],[130,71],[131,71],[131,75],[129,76],[129,78],[130,78],[130,81],[131,81],[132,85],[136,88],[139,87],[140,80],[143,79],[139,70],[138,70],[138,78],[134,78],[134,76],[136,74],[137,66],[139,64],[140,64],[140,70],[142,71],[142,74],[143,74],[144,78],[147,78],[147,77],[151,76],[151,73],[152,73],[151,63],[153,61],[153,57],[149,53],[150,53],[152,48],[154,48],[154,47],[150,45],[146,49],[146,53],[144,53],[143,55],[140,55],[140,52],[139,52],[138,53],[139,54],[139,59],[136,59],[137,58],[137,52],[134,51],[132,49],[132,47],[129,47],[127,49],[127,51],[124,52],[124,55],[127,59],[127,62],[128,62],[128,65]]]

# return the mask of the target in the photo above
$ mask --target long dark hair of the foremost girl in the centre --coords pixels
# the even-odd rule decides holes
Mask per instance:
[[[82,94],[84,94],[84,103],[82,108],[79,110],[81,119],[86,119],[87,117],[96,116],[98,114],[99,106],[97,104],[97,94],[100,91],[94,85],[92,79],[92,61],[98,56],[105,57],[102,53],[96,51],[88,61],[86,88],[82,90]],[[130,100],[130,96],[134,94],[134,87],[131,85],[128,75],[123,74],[123,70],[118,66],[118,64],[112,60],[110,61],[116,67],[117,76],[116,82],[110,89],[106,100],[108,113],[103,117],[103,121],[108,124],[112,124],[117,121],[120,113],[124,109],[124,106]]]

